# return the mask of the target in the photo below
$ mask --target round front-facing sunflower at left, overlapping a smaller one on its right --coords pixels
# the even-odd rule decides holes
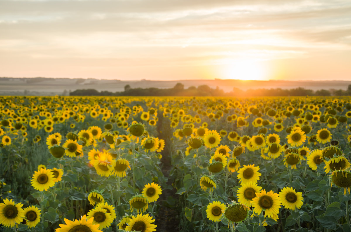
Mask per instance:
[[[50,169],[41,168],[34,172],[31,183],[35,190],[46,191],[55,185],[54,173]]]

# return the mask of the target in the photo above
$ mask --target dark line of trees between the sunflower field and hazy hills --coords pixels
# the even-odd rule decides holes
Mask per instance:
[[[129,84],[122,92],[97,91],[96,89],[77,89],[69,93],[70,96],[235,96],[235,97],[258,97],[258,96],[345,96],[351,95],[351,84],[347,90],[326,90],[313,91],[312,89],[248,89],[246,91],[234,88],[233,91],[225,93],[218,87],[213,89],[207,85],[198,87],[190,86],[184,89],[182,83],[177,83],[173,88],[131,88]]]

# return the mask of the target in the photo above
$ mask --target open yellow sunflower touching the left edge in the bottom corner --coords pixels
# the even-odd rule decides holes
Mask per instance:
[[[0,224],[6,227],[13,227],[15,223],[20,224],[24,218],[23,204],[15,204],[7,198],[0,203]]]

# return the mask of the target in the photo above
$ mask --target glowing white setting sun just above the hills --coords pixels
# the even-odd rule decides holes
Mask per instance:
[[[220,70],[221,79],[267,80],[267,68],[256,60],[227,60]]]

